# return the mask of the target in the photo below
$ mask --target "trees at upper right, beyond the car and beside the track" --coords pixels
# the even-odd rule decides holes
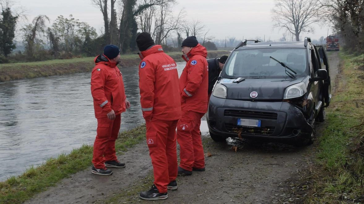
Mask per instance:
[[[275,0],[272,19],[274,27],[293,34],[296,41],[301,32],[313,32],[314,24],[322,24],[340,36],[344,48],[364,51],[364,0]]]

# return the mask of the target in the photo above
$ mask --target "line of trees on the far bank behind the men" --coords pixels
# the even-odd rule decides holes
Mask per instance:
[[[103,32],[72,15],[58,16],[51,23],[45,15],[35,17],[21,31],[24,52],[12,53],[15,28],[20,14],[11,9],[11,0],[0,0],[0,63],[10,61],[40,61],[95,56],[103,46],[118,45],[122,53],[137,51],[138,32],[149,32],[156,44],[167,51],[179,51],[182,35],[195,35],[209,50],[217,50],[208,35],[209,30],[199,20],[184,20],[184,9],[171,15],[175,0],[90,0],[103,16]],[[101,19],[100,19],[101,20]],[[175,37],[177,36],[177,37]],[[177,48],[176,48],[177,47]]]

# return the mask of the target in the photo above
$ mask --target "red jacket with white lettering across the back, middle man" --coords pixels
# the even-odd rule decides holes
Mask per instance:
[[[140,52],[139,89],[143,117],[174,121],[181,118],[176,62],[161,45]]]

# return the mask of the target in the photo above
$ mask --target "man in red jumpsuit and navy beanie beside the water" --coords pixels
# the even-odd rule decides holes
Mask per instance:
[[[106,45],[104,53],[95,57],[95,68],[91,73],[91,94],[94,98],[97,135],[92,158],[92,174],[111,175],[106,167],[124,168],[115,152],[121,113],[130,107],[124,91],[123,76],[116,66],[120,51],[115,45]]]

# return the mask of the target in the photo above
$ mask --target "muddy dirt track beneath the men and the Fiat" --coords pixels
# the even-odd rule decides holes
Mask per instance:
[[[330,53],[332,84],[338,66],[337,52]],[[138,185],[148,182],[146,178],[150,178],[153,171],[148,148],[142,143],[119,155],[119,160],[126,163],[126,168],[112,168],[114,174],[111,176],[91,174],[90,167],[63,179],[55,187],[50,187],[25,203],[105,203],[109,197],[120,193],[124,195],[120,196],[117,203],[303,202],[304,193],[292,192],[309,188],[299,181],[304,175],[302,172],[312,168],[317,144],[298,148],[238,139],[216,143],[209,138],[205,123],[201,131],[206,171],[178,176],[178,190],[169,191],[166,200],[144,201],[139,199],[137,192],[133,192]],[[320,136],[319,130],[320,126],[317,136]]]

